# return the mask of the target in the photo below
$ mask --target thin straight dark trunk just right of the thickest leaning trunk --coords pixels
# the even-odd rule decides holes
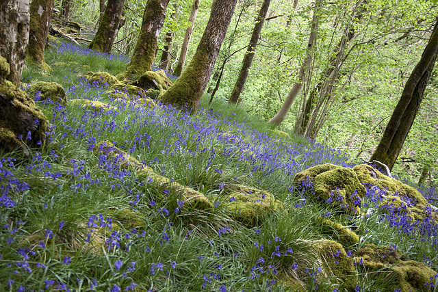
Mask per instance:
[[[237,77],[237,81],[235,81],[233,92],[231,92],[231,96],[228,101],[229,103],[236,104],[237,101],[239,101],[242,90],[244,89],[246,78],[248,77],[249,68],[251,64],[253,64],[255,49],[257,46],[257,42],[259,42],[261,28],[263,27],[263,21],[269,10],[269,4],[270,4],[270,0],[263,0],[263,4],[261,5],[259,15],[255,18],[255,26],[253,29],[253,34],[249,41],[249,46],[248,49],[246,50],[242,62],[242,68],[240,69],[239,77]]]

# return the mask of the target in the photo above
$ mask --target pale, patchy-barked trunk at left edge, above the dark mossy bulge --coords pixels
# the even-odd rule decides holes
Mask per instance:
[[[0,55],[10,66],[5,79],[20,84],[29,40],[29,1],[0,1]]]

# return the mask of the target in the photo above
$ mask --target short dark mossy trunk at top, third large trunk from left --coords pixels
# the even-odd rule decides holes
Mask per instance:
[[[120,17],[122,16],[123,5],[125,5],[125,0],[108,0],[107,8],[103,12],[99,23],[99,29],[97,29],[96,36],[94,36],[88,48],[101,53],[111,53],[114,39],[117,36]]]

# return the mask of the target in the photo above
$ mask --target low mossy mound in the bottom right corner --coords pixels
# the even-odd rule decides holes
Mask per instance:
[[[429,291],[424,284],[437,274],[433,269],[417,261],[402,261],[398,251],[390,246],[365,245],[355,256],[359,267],[373,275],[379,276],[378,271],[384,270],[387,278],[388,291],[401,289],[402,292]],[[388,274],[390,273],[390,274]]]

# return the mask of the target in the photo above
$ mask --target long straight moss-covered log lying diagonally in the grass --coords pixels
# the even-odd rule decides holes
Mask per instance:
[[[110,142],[96,144],[93,148],[93,152],[95,155],[103,154],[114,159],[114,162],[118,163],[120,168],[136,172],[140,181],[151,183],[163,191],[168,191],[168,196],[170,196],[170,191],[172,191],[172,193],[177,193],[179,200],[183,200],[185,206],[190,206],[193,209],[198,210],[213,208],[213,204],[211,204],[201,192],[190,187],[185,187],[179,183],[172,182],[169,178],[153,172],[152,168],[149,168],[137,159],[131,157],[131,155],[123,152]]]

